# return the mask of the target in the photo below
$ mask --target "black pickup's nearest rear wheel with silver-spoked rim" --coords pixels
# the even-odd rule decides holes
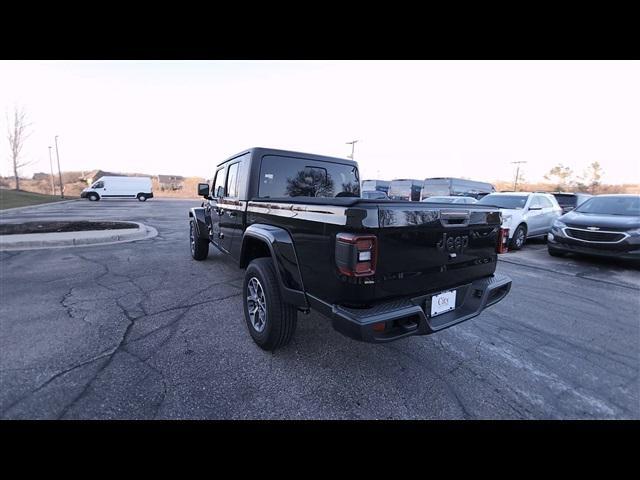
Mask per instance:
[[[275,350],[293,338],[298,310],[282,300],[271,258],[256,258],[244,275],[244,318],[253,341],[263,350]]]

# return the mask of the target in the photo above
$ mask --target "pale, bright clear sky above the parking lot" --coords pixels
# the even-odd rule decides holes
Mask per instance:
[[[250,147],[347,157],[361,179],[542,181],[558,163],[640,183],[638,61],[0,61],[6,112],[32,122],[22,174],[210,178]],[[53,150],[55,165],[55,148]]]

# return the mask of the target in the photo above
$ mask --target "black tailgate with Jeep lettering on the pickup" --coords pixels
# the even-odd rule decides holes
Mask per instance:
[[[411,295],[493,274],[499,210],[473,205],[380,204],[376,296]]]

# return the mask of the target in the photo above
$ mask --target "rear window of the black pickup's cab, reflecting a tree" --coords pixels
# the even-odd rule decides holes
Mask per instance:
[[[341,163],[265,155],[260,164],[258,196],[359,197],[358,169]]]

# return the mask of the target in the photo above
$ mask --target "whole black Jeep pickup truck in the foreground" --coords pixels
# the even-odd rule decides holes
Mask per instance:
[[[387,342],[475,317],[511,288],[495,274],[497,208],[363,199],[351,160],[252,148],[198,194],[191,255],[204,260],[213,244],[246,269],[244,316],[265,350],[291,340],[298,311]]]

